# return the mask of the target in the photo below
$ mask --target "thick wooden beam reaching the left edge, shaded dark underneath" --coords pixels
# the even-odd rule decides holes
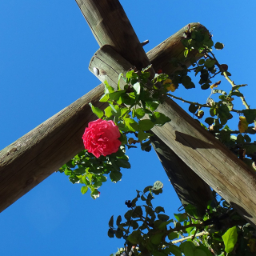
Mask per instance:
[[[88,103],[105,108],[98,102],[103,92],[97,86],[0,151],[0,211],[83,150],[84,129],[97,118]]]

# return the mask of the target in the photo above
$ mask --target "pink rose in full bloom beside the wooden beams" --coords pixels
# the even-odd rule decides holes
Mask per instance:
[[[121,145],[119,137],[118,126],[112,120],[98,119],[89,123],[82,135],[82,140],[86,150],[99,158],[101,155],[106,157],[118,151]]]

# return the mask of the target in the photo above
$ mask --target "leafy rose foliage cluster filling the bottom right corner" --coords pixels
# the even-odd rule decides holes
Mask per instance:
[[[252,256],[256,253],[256,232],[226,201],[207,206],[206,214],[198,217],[194,206],[170,218],[162,206],[154,208],[152,200],[162,193],[162,182],[137,190],[133,200],[126,201],[130,209],[116,219],[110,218],[108,235],[123,238],[124,247],[116,254],[154,256],[212,256],[235,254]],[[140,202],[140,204],[139,204]]]

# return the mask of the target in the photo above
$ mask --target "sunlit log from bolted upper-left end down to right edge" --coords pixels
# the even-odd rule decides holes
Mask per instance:
[[[118,59],[118,65],[115,64],[116,59]],[[102,74],[108,76],[111,82],[118,79],[119,72],[125,73],[124,70],[130,64],[121,56],[118,57],[113,47],[102,46],[92,58],[90,70],[93,70],[95,66],[99,66]],[[116,68],[118,70],[115,70]],[[101,75],[98,78],[105,79]],[[256,175],[250,170],[250,167],[246,166],[244,162],[171,99],[167,99],[166,102],[158,106],[158,111],[166,114],[171,122],[161,127],[155,126],[152,129],[154,134],[166,143],[172,150],[171,153],[175,152],[178,158],[186,163],[186,166],[194,170],[199,177],[229,202],[243,218],[255,225]],[[168,164],[171,163],[170,170],[175,170],[173,159],[170,158],[168,162]],[[189,176],[186,172],[184,175]],[[179,183],[179,185],[184,186],[188,182],[192,183],[194,180],[186,178],[183,185],[182,183]],[[202,194],[200,196],[202,197]]]

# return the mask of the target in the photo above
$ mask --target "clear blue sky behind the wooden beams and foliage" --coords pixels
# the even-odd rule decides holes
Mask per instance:
[[[138,38],[150,40],[146,51],[190,22],[206,26],[214,42],[225,44],[217,52],[220,62],[229,65],[234,82],[249,84],[242,92],[256,107],[254,0],[120,2]],[[99,81],[88,70],[98,44],[74,0],[1,1],[0,36],[3,149]],[[188,98],[196,95],[193,92],[181,89],[175,94]],[[162,204],[169,214],[177,212],[181,203],[154,151],[131,150],[128,154],[132,169],[123,171],[122,182],[104,184],[97,200],[82,195],[79,185],[57,173],[4,210],[0,214],[0,255],[110,255],[123,245],[122,240],[107,237],[110,216],[124,214],[126,199],[156,180],[165,185],[156,206]]]

